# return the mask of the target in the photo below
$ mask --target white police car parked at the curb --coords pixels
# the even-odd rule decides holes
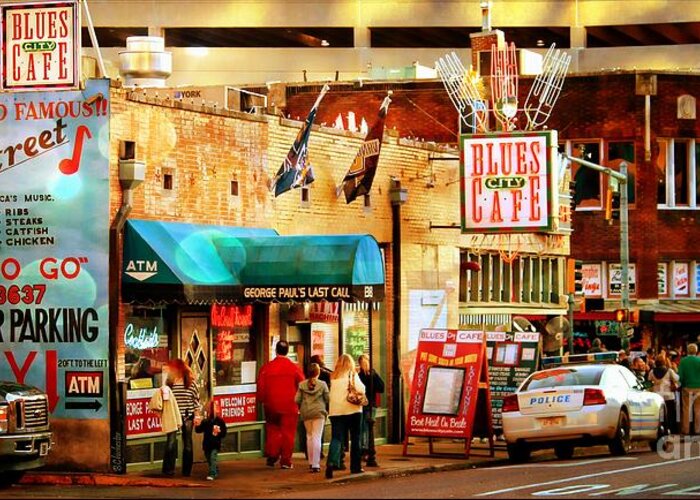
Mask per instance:
[[[544,358],[545,369],[503,400],[503,436],[511,461],[524,462],[532,450],[544,448],[567,459],[576,446],[597,444],[625,455],[632,440],[648,441],[655,451],[668,434],[664,400],[645,391],[630,370],[615,363],[616,356]]]

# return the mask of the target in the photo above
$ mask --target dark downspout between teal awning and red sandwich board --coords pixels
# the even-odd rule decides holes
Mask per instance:
[[[401,205],[408,200],[408,190],[401,187],[401,181],[391,178],[389,189],[391,200],[391,255],[393,288],[392,362],[391,362],[391,442],[401,443],[404,439],[403,388],[401,384]]]

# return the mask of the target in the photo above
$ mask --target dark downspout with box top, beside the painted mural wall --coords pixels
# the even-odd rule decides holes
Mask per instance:
[[[126,474],[126,383],[119,382],[117,358],[119,355],[118,326],[121,302],[121,237],[131,213],[133,190],[143,182],[145,165],[133,159],[119,160],[119,182],[122,204],[109,228],[109,420],[110,469]]]

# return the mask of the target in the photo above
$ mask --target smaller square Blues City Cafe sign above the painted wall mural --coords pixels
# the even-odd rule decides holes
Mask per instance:
[[[77,1],[0,6],[0,90],[77,89],[80,9]]]

